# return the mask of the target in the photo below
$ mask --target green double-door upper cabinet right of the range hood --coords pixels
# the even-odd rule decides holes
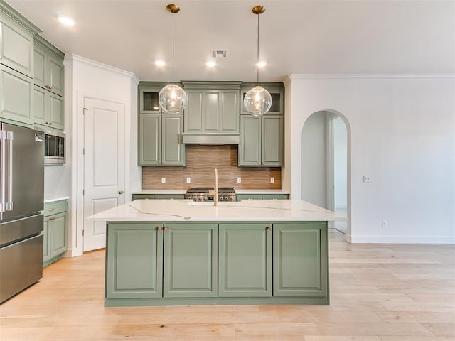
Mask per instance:
[[[283,166],[283,115],[240,117],[239,166]]]

